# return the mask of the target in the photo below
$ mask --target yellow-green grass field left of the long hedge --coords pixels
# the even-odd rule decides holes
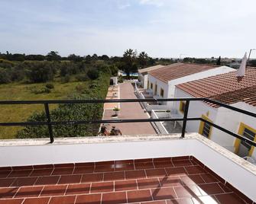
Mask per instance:
[[[88,83],[88,82],[87,82]],[[31,88],[44,88],[45,84],[0,84],[0,100],[57,100],[66,99],[70,94],[76,91],[76,86],[86,82],[69,82],[60,83],[53,82],[54,88],[49,94],[34,94]],[[50,105],[50,110],[57,105]],[[0,122],[25,122],[28,116],[34,111],[44,110],[43,105],[2,105],[0,106]],[[0,126],[0,139],[15,139],[15,135],[19,126]]]

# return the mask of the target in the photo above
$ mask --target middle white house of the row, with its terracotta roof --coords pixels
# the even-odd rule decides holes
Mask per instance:
[[[174,63],[148,72],[148,90],[155,98],[174,97],[175,85],[212,75],[232,72],[227,66]],[[172,104],[172,103],[168,103]]]

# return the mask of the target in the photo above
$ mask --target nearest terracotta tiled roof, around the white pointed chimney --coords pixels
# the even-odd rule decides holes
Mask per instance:
[[[256,69],[247,68],[245,77],[238,83],[237,71],[215,75],[195,81],[178,84],[177,88],[193,97],[207,97],[225,104],[244,101],[256,106]],[[212,107],[217,107],[211,104]]]

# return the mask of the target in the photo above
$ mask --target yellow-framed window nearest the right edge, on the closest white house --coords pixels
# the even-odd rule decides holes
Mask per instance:
[[[253,129],[244,123],[240,124],[238,134],[243,135],[245,138],[250,139],[251,141],[256,141],[256,129]],[[238,156],[242,158],[251,156],[253,151],[254,146],[248,144],[248,142],[242,141],[241,139],[235,140],[235,154]]]

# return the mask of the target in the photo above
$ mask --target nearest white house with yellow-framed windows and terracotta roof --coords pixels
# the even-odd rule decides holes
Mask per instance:
[[[256,113],[256,69],[248,68],[245,77],[239,83],[236,73],[236,71],[228,72],[178,84],[175,97],[207,97]],[[183,101],[175,102],[178,115],[183,116],[184,107]],[[202,116],[212,123],[256,142],[256,119],[254,117],[201,101],[190,102],[189,116]],[[241,142],[240,139],[235,139],[207,123],[190,121],[187,123],[186,131],[199,132],[241,157],[249,156],[256,160],[256,151],[253,146]]]

